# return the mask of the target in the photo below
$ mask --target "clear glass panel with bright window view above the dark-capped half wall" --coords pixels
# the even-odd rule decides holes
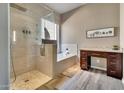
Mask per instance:
[[[44,16],[42,18],[42,38],[48,40],[57,40],[54,12]]]

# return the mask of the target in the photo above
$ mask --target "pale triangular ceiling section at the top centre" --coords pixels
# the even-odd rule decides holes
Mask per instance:
[[[51,9],[55,10],[56,12],[60,14],[71,11],[84,4],[85,3],[46,3],[48,7],[50,7]]]

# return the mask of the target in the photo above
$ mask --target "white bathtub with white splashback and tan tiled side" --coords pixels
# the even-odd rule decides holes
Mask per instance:
[[[69,54],[66,54],[66,48],[68,48]],[[62,53],[57,54],[56,74],[62,73],[77,62],[77,44],[63,44]]]

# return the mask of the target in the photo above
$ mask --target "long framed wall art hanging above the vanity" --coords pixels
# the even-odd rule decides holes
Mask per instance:
[[[112,37],[112,36],[114,36],[114,27],[89,30],[86,32],[87,38],[102,38],[102,37]]]

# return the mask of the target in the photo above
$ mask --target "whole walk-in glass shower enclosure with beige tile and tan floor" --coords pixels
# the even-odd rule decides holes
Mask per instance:
[[[42,39],[56,40],[54,12],[43,4],[10,4],[10,13],[10,89],[37,89],[52,79],[46,60],[51,48]]]

